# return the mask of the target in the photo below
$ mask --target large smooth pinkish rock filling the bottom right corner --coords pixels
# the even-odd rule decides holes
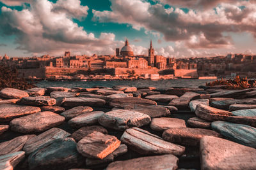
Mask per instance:
[[[200,141],[201,169],[255,169],[256,150],[226,139],[206,136]]]

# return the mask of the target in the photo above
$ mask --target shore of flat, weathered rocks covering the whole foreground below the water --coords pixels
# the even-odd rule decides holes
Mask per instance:
[[[0,169],[256,169],[256,89],[0,91]]]

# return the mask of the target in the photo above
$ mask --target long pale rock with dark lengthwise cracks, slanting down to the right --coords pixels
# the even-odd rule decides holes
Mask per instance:
[[[126,129],[121,136],[121,141],[134,150],[134,152],[143,155],[182,155],[185,152],[184,146],[164,141],[159,136],[150,134],[150,132],[144,131],[138,127]]]

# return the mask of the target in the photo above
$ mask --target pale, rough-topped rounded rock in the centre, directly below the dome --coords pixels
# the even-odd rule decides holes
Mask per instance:
[[[113,110],[102,115],[98,121],[104,127],[124,131],[130,127],[147,125],[150,123],[151,118],[138,111]]]

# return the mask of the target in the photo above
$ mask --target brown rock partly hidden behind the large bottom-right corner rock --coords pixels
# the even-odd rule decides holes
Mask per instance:
[[[220,137],[217,132],[200,128],[172,128],[163,132],[163,139],[180,145],[197,146],[204,136]]]

